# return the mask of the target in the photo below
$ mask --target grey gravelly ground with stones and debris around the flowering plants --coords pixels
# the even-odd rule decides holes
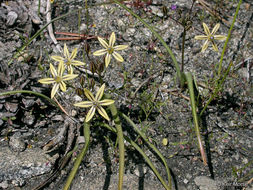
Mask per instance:
[[[200,2],[206,2],[206,7]],[[178,62],[181,62],[183,36],[179,22],[190,11],[191,3],[189,0],[125,2],[155,27]],[[201,53],[203,41],[196,41],[194,36],[201,35],[202,22],[210,28],[220,22],[217,33],[227,34],[236,6],[237,1],[206,0],[196,1],[192,8],[191,27],[185,41],[185,71],[192,72],[199,83],[209,88],[224,43],[219,42],[219,53],[211,47]],[[53,63],[50,56],[61,55],[64,43],[70,51],[78,48],[76,59],[85,61],[87,66],[76,71],[85,78],[84,85],[79,77],[71,84],[72,88],[57,96],[74,123],[42,97],[24,93],[0,96],[0,189],[34,189],[57,170],[61,158],[77,144],[70,161],[44,187],[46,190],[62,189],[76,154],[83,146],[81,126],[86,112],[72,105],[84,99],[76,94],[77,88],[87,87],[93,77],[93,83],[99,84],[95,76],[86,74],[92,63],[99,62],[99,57],[85,53],[87,47],[90,52],[100,49],[99,42],[92,38],[58,40],[56,44],[47,28],[30,41],[50,16],[54,19],[70,12],[53,22],[53,31],[106,38],[114,31],[117,44],[129,45],[126,51],[120,52],[125,61],[112,60],[103,73],[106,91],[111,92],[119,110],[128,114],[165,156],[173,173],[174,189],[252,189],[253,2],[245,0],[241,5],[224,56],[224,68],[233,63],[231,72],[219,98],[210,104],[202,118],[208,166],[204,166],[197,148],[189,94],[178,88],[174,65],[162,44],[135,17],[112,2],[87,1],[87,7],[84,0],[55,0],[51,5],[46,0],[1,2],[0,93],[31,90],[50,96],[51,87],[38,80],[49,74],[49,63]],[[216,14],[212,15],[208,7],[216,10]],[[17,54],[26,43],[29,45]],[[199,87],[199,90],[203,101],[208,100],[209,89]],[[129,128],[123,122],[126,135],[132,133]],[[162,144],[164,138],[168,140],[166,146]],[[115,136],[105,129],[92,128],[91,146],[71,189],[117,189],[118,152],[113,140]],[[138,143],[165,177],[161,162],[140,139]],[[124,189],[163,189],[129,145],[126,145]]]

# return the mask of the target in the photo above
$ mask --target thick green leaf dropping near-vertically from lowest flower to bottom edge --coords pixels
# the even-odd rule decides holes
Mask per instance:
[[[108,94],[104,94],[104,97],[106,99],[111,99],[111,96]],[[115,127],[117,130],[117,137],[118,137],[118,143],[119,143],[119,184],[118,184],[118,190],[122,190],[123,189],[124,165],[125,165],[124,137],[123,137],[123,131],[122,131],[122,127],[121,127],[120,118],[119,118],[118,111],[117,111],[115,104],[109,105],[109,108],[111,110],[113,120],[115,122]]]

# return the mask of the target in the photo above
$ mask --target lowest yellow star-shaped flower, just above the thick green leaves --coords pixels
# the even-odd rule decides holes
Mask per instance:
[[[82,107],[82,108],[91,107],[91,109],[88,111],[85,122],[89,122],[92,119],[96,110],[106,120],[108,120],[108,121],[110,120],[106,111],[104,110],[104,108],[102,108],[102,106],[111,105],[114,103],[114,100],[110,100],[110,99],[101,100],[101,98],[103,97],[103,94],[104,94],[104,90],[105,90],[105,84],[103,84],[101,86],[101,88],[98,90],[96,96],[94,97],[92,95],[92,93],[88,89],[85,88],[84,94],[90,101],[83,101],[83,102],[79,102],[79,103],[74,104],[74,106],[78,106],[78,107]]]

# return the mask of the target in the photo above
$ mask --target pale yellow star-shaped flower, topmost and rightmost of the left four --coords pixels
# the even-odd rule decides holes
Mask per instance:
[[[102,44],[102,46],[105,49],[101,49],[101,50],[95,51],[93,53],[93,55],[100,56],[100,55],[106,54],[106,57],[105,57],[105,66],[106,67],[108,67],[108,65],[109,65],[109,63],[111,61],[112,56],[117,61],[119,61],[119,62],[123,62],[124,61],[123,57],[119,53],[117,53],[116,51],[126,49],[128,47],[128,45],[114,46],[114,43],[116,41],[116,37],[115,37],[115,33],[114,32],[110,36],[109,44],[105,40],[103,40],[102,38],[100,38],[100,37],[98,37],[98,40],[99,40],[99,42]]]

